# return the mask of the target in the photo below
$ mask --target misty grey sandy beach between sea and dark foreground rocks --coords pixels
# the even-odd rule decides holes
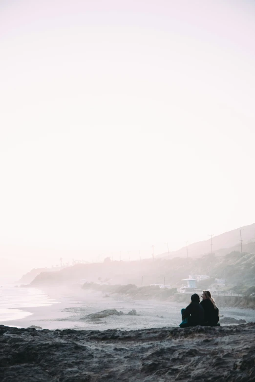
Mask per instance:
[[[0,322],[0,324],[21,328],[36,325],[52,330],[68,328],[135,330],[176,327],[180,323],[180,310],[183,307],[183,303],[180,302],[132,300],[125,295],[110,295],[106,298],[102,292],[83,290],[79,285],[72,288],[48,288],[44,292],[55,303],[46,306],[20,307],[21,311],[28,312],[30,315]],[[105,309],[123,311],[124,315],[112,315],[97,321],[86,317]],[[136,310],[136,316],[127,315],[132,309]],[[255,311],[251,309],[220,308],[220,315],[255,322]]]

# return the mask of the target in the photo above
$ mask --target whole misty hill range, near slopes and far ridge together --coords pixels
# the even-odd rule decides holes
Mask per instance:
[[[110,284],[151,283],[181,286],[182,279],[190,274],[209,275],[211,278],[224,278],[229,284],[255,285],[255,223],[242,227],[243,253],[240,253],[240,233],[237,230],[225,232],[211,240],[189,245],[189,258],[186,247],[143,261],[107,261],[104,263],[76,264],[59,271],[43,269],[30,283],[31,286],[67,285],[87,282],[109,282]],[[198,260],[199,258],[199,260]],[[246,289],[247,289],[246,288]]]

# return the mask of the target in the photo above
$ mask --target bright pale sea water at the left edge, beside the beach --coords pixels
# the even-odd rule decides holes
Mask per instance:
[[[29,308],[53,303],[57,301],[38,288],[0,285],[0,323],[25,318],[32,315]]]

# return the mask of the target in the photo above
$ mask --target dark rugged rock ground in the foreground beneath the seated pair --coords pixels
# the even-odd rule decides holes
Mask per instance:
[[[0,325],[1,382],[255,381],[255,323],[36,330]]]

